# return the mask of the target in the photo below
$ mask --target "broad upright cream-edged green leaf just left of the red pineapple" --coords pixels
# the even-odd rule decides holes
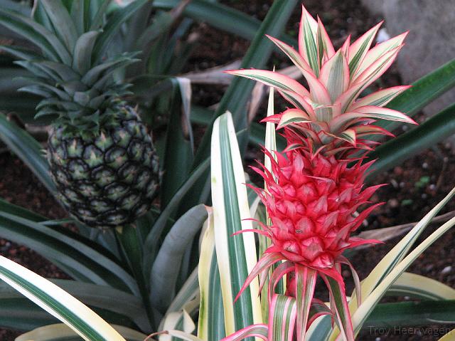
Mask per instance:
[[[262,321],[257,279],[240,295],[257,262],[255,238],[236,232],[252,229],[245,176],[232,117],[229,112],[215,121],[211,151],[211,181],[215,248],[220,268],[226,333],[232,334]]]

